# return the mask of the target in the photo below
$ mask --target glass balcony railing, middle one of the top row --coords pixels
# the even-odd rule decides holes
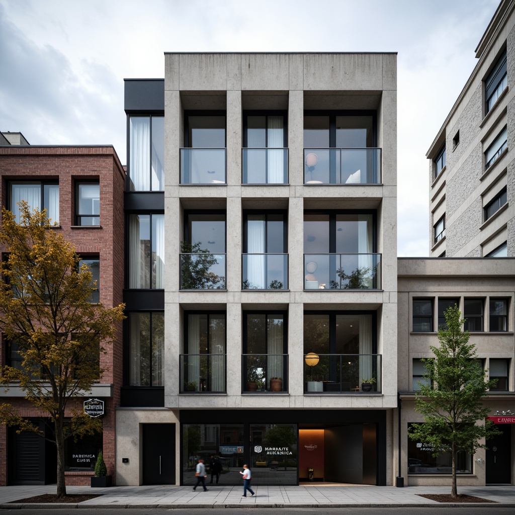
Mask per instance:
[[[242,184],[287,184],[287,148],[242,149]]]

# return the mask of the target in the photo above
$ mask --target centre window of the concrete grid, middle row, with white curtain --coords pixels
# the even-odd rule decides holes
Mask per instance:
[[[283,213],[247,213],[242,289],[287,289],[288,255]]]

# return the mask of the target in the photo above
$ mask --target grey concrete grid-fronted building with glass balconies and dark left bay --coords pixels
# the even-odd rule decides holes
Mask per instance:
[[[165,54],[126,80],[117,484],[192,484],[211,454],[225,484],[393,483],[396,57]]]

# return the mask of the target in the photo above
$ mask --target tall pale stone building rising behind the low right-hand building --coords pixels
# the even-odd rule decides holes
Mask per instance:
[[[515,256],[515,2],[503,0],[430,159],[430,255]]]

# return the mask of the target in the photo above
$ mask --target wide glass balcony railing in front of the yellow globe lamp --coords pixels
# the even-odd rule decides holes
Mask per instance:
[[[381,354],[306,356],[304,393],[381,392]]]

